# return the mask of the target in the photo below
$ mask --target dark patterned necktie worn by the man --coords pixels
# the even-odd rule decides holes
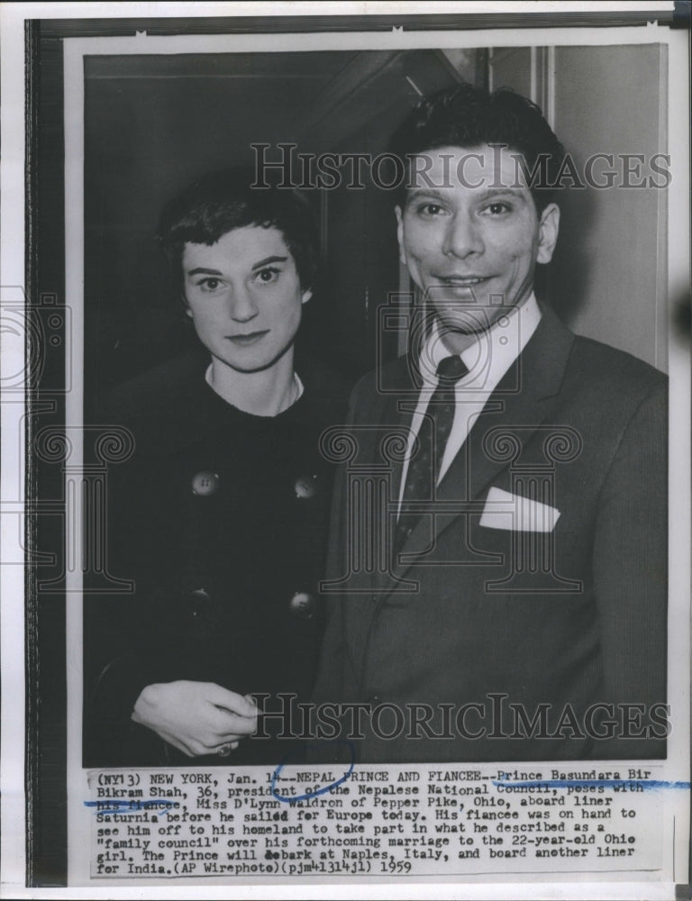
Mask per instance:
[[[408,461],[406,485],[401,513],[396,523],[394,550],[398,552],[423,514],[422,510],[406,510],[406,505],[419,501],[429,506],[440,475],[444,449],[454,422],[454,387],[469,369],[459,356],[445,357],[437,367],[437,387],[432,393],[423,422],[418,431],[417,450]]]

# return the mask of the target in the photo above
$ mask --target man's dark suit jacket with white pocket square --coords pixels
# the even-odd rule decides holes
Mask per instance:
[[[404,358],[351,397],[316,701],[377,711],[360,760],[663,756],[666,378],[545,311],[390,563],[417,396]],[[492,488],[554,529],[492,527]]]

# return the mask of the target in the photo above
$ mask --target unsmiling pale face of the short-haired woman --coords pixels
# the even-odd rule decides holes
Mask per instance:
[[[187,243],[182,265],[187,314],[214,358],[255,372],[293,346],[311,293],[278,229],[249,225],[211,246]]]

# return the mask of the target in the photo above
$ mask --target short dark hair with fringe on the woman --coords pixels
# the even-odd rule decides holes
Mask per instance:
[[[252,187],[254,179],[250,168],[214,172],[199,178],[166,206],[157,240],[178,286],[188,242],[211,246],[224,234],[252,225],[278,229],[296,261],[301,289],[314,286],[319,239],[305,197],[295,190]]]

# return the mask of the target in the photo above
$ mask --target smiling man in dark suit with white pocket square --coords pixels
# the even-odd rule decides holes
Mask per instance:
[[[563,159],[538,107],[462,86],[395,147],[428,315],[351,398],[317,713],[365,761],[661,756],[666,379],[536,300]]]

